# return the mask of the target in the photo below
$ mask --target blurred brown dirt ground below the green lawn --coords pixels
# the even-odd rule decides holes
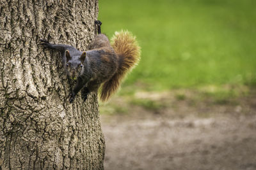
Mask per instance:
[[[105,169],[256,169],[256,96],[237,100],[102,115]]]

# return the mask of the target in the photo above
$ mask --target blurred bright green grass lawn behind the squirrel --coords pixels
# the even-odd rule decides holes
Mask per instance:
[[[121,93],[256,84],[255,0],[99,1],[102,32],[128,29],[140,64]]]

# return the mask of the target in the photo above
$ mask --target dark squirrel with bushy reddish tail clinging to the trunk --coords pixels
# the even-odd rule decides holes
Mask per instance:
[[[92,50],[85,52],[77,50],[74,46],[55,45],[40,39],[41,45],[61,53],[61,62],[67,71],[68,79],[76,81],[74,89],[70,89],[70,103],[80,90],[82,98],[86,101],[88,94],[98,92],[100,87],[100,100],[108,101],[120,87],[125,74],[140,60],[140,46],[130,32],[115,32],[110,43],[108,37],[101,33],[101,24],[99,20],[95,20],[98,34],[92,43]]]

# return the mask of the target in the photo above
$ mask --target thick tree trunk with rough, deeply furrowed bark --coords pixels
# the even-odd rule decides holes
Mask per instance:
[[[97,15],[97,0],[0,1],[0,169],[103,169],[97,94],[68,103],[60,54],[39,41],[86,50]]]

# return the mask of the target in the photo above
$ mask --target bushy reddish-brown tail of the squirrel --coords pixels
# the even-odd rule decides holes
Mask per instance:
[[[111,46],[118,55],[119,66],[114,76],[102,85],[101,101],[107,101],[116,92],[125,74],[140,60],[140,46],[129,31],[115,32],[111,38]]]

